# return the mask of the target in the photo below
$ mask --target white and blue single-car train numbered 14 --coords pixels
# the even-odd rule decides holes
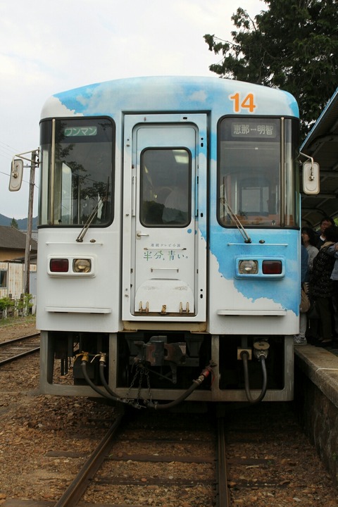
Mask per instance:
[[[40,132],[41,392],[152,408],[292,399],[294,98],[114,80],[51,96]]]

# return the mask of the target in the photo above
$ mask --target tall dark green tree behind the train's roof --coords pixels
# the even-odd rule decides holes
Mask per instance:
[[[292,93],[305,137],[338,84],[338,0],[263,1],[268,9],[254,18],[242,8],[232,15],[232,42],[204,35],[223,56],[209,68]]]

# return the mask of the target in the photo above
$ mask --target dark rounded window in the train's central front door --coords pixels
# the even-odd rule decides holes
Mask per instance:
[[[147,148],[142,152],[139,199],[142,225],[189,225],[191,165],[191,155],[187,149]]]

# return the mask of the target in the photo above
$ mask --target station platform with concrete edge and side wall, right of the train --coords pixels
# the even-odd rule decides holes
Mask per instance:
[[[294,403],[299,423],[338,485],[338,349],[294,346]]]

